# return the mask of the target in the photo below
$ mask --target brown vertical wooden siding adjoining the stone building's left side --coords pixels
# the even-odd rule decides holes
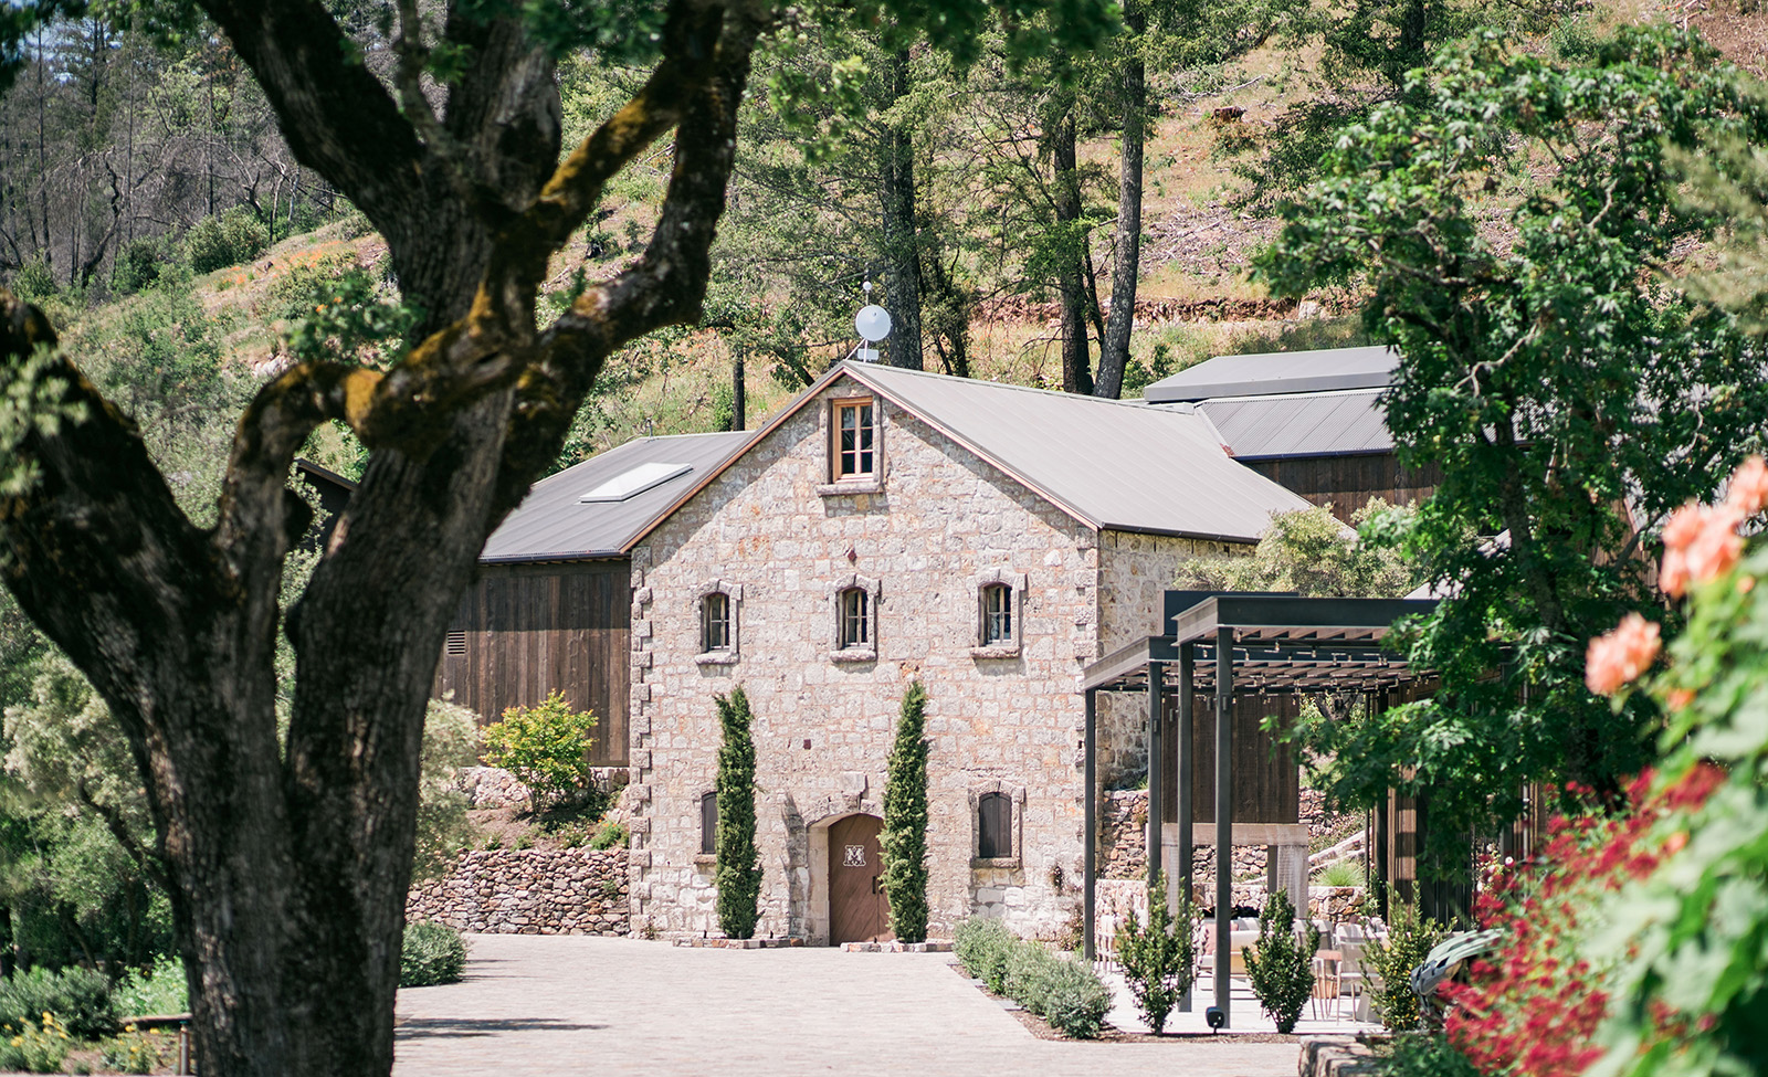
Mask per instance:
[[[592,711],[594,766],[628,766],[631,566],[626,561],[484,566],[461,598],[451,630],[467,631],[465,654],[442,654],[437,695],[495,722],[564,691]]]

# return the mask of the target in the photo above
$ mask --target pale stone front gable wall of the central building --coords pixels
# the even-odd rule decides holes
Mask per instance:
[[[827,396],[852,396],[834,382]],[[1091,527],[937,430],[884,405],[884,479],[827,483],[827,407],[812,401],[633,550],[635,925],[713,930],[700,796],[713,787],[713,695],[755,713],[758,934],[827,939],[827,828],[880,813],[907,684],[928,690],[932,934],[997,913],[1057,937],[1078,904],[1084,700],[1096,658]],[[819,490],[822,488],[822,490]],[[978,647],[978,582],[1020,591],[1020,642]],[[833,654],[834,592],[877,587],[875,654]],[[698,601],[732,596],[734,661],[697,656]],[[728,658],[728,656],[727,656]],[[974,798],[1015,799],[1017,856],[972,867]]]

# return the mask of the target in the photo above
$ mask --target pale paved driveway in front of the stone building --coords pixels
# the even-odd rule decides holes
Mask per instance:
[[[1038,1040],[953,973],[948,953],[469,941],[465,982],[400,992],[398,1077],[1296,1072],[1292,1043]]]

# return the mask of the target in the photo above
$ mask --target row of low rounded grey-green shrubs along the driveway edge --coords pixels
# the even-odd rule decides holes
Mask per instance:
[[[1105,1026],[1110,989],[1086,962],[1017,939],[999,920],[985,916],[958,923],[951,948],[965,973],[1064,1036],[1091,1040]]]

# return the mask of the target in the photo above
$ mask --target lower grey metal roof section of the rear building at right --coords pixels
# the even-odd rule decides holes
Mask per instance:
[[[1195,405],[1239,460],[1390,453],[1384,389],[1223,396]]]

